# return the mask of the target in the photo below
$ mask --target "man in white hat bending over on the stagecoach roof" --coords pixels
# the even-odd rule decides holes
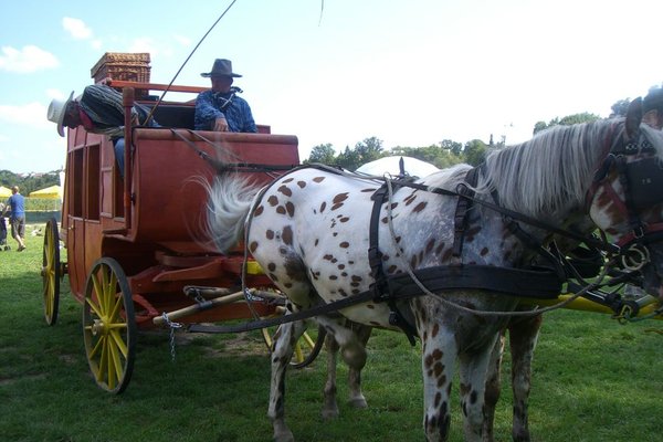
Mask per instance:
[[[148,115],[149,110],[145,106],[134,104],[134,125],[158,127],[154,119],[147,122]],[[71,129],[83,126],[86,131],[109,136],[120,175],[124,173],[124,105],[119,92],[101,84],[90,85],[77,98],[74,98],[72,92],[64,102],[53,99],[46,117],[57,125],[61,137],[64,137],[65,126]]]

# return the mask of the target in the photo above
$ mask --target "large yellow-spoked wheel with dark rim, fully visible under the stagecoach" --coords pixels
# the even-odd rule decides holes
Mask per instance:
[[[136,322],[127,277],[114,259],[102,257],[87,275],[83,338],[96,383],[108,392],[122,393],[134,370]]]

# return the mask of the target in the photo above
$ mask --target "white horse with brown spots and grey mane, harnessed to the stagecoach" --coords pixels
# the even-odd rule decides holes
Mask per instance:
[[[557,228],[591,220],[592,229],[604,230],[623,246],[636,236],[633,219],[640,221],[643,231],[639,233],[645,238],[663,230],[663,203],[639,208],[635,213],[627,210],[633,206],[632,194],[620,182],[618,168],[607,161],[617,156],[627,162],[663,158],[663,134],[641,125],[641,116],[638,103],[627,118],[560,126],[497,150],[482,168],[476,198],[493,201],[497,194],[503,208]],[[624,149],[630,154],[619,154]],[[454,190],[470,169],[456,166],[420,182]],[[369,219],[371,196],[378,187],[376,181],[318,168],[297,169],[260,193],[236,178],[219,177],[210,194],[210,228],[222,251],[234,245],[245,228],[253,257],[297,309],[306,309],[369,290],[373,282],[367,257]],[[382,204],[379,244],[387,275],[452,263],[456,201],[457,197],[401,187]],[[475,203],[467,219],[462,263],[527,265],[536,252],[506,223],[501,213]],[[540,228],[519,224],[540,243],[549,236]],[[663,292],[663,250],[656,241],[644,241],[641,246],[649,255],[642,267],[645,290],[659,295]],[[451,380],[459,361],[464,438],[481,441],[487,366],[507,318],[469,313],[449,303],[476,312],[509,312],[518,301],[487,291],[453,290],[398,302],[422,341],[427,439],[449,438]],[[387,303],[367,302],[340,313],[360,324],[393,328],[390,311]],[[357,336],[335,318],[320,316],[317,320],[337,340],[346,362],[362,367],[366,351]],[[282,327],[272,356],[269,415],[277,441],[293,440],[284,419],[285,369],[301,328]]]

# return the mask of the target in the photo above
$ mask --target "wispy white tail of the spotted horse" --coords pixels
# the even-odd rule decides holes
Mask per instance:
[[[245,179],[217,177],[208,185],[208,234],[221,253],[235,245],[244,233],[244,223],[259,188]]]

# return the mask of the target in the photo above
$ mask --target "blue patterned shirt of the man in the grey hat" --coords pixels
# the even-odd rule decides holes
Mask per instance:
[[[232,95],[213,91],[204,91],[196,98],[196,130],[211,130],[217,118],[225,118],[230,131],[256,133],[255,122],[251,107],[244,98],[233,95],[230,104],[221,110],[228,98]]]

